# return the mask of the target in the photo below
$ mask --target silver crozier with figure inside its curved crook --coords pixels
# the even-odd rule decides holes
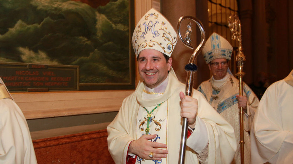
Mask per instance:
[[[185,95],[186,96],[192,96],[192,89],[193,89],[193,78],[194,78],[194,73],[197,71],[197,66],[195,65],[195,59],[198,56],[198,54],[201,52],[202,48],[204,47],[206,43],[206,34],[205,30],[201,24],[201,22],[196,19],[195,17],[191,16],[184,16],[180,17],[178,24],[177,24],[177,33],[179,35],[180,40],[183,42],[183,44],[191,49],[193,47],[191,46],[191,39],[190,39],[190,34],[191,34],[191,23],[188,24],[186,34],[184,39],[181,36],[180,33],[180,26],[181,22],[184,19],[191,19],[194,22],[196,22],[197,26],[201,30],[201,43],[199,46],[195,49],[195,51],[192,53],[191,58],[189,60],[189,63],[186,64],[185,70],[187,71],[187,77],[186,77],[186,87],[185,87]],[[185,149],[186,149],[186,140],[187,140],[187,131],[188,131],[188,121],[187,118],[183,118],[182,122],[182,133],[181,133],[181,144],[180,144],[180,155],[179,155],[179,164],[183,164],[185,160]]]

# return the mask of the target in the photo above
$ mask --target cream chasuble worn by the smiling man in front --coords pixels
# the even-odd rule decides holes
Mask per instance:
[[[185,85],[178,81],[173,71],[170,71],[168,78],[165,92],[155,98],[142,98],[145,84],[141,82],[136,91],[124,99],[117,116],[107,127],[108,148],[115,163],[126,163],[130,142],[145,135],[146,110],[150,112],[160,103],[152,112],[149,134],[157,134],[153,142],[166,144],[169,153],[162,161],[141,161],[137,157],[136,163],[178,163],[182,131],[179,93],[185,92]],[[236,151],[232,126],[209,105],[200,92],[193,90],[192,97],[198,101],[198,111],[195,129],[187,139],[185,163],[231,163]],[[204,132],[207,137],[201,135]]]

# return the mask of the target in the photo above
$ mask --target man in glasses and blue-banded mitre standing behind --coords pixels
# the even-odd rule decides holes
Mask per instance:
[[[239,81],[228,73],[228,62],[233,47],[222,36],[213,33],[202,50],[203,57],[212,71],[212,77],[200,84],[198,91],[234,128],[238,143],[240,142],[239,108],[243,107],[244,117],[244,162],[250,163],[249,131],[259,100],[244,83],[243,96],[239,96]],[[240,144],[232,163],[240,163]]]

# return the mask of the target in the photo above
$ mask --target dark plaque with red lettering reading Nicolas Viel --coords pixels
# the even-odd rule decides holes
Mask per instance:
[[[79,90],[79,66],[0,62],[9,92]]]

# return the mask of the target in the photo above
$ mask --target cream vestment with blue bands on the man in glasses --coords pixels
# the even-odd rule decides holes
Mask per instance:
[[[202,82],[197,88],[209,104],[226,120],[228,121],[234,131],[237,143],[240,142],[240,121],[239,108],[236,96],[239,95],[239,82],[235,77],[230,76],[228,81],[219,88],[212,86],[212,80]],[[247,97],[247,110],[256,109],[258,101],[252,90],[244,83],[243,96]],[[250,111],[251,112],[251,111]],[[249,124],[248,119],[244,119],[244,125]],[[244,131],[244,161],[250,163],[250,138],[249,133]],[[240,163],[240,144],[237,144],[237,151],[235,153],[232,163]]]

